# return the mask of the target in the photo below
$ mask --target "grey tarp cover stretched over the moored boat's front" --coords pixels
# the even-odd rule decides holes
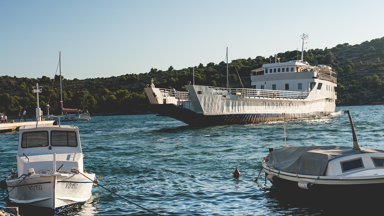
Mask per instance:
[[[383,150],[345,146],[288,146],[271,151],[268,166],[287,173],[322,176],[328,161],[361,153],[384,153]]]

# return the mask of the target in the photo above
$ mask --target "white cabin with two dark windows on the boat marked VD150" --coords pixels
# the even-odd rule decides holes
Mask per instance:
[[[71,173],[73,167],[83,172],[83,153],[79,128],[73,125],[20,127],[17,149],[18,176],[57,170]]]

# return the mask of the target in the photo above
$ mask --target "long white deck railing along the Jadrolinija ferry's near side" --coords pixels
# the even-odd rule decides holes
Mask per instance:
[[[208,86],[212,90],[227,90],[231,95],[240,98],[278,98],[278,99],[296,99],[304,100],[308,97],[308,91],[277,91],[252,88],[219,88]]]

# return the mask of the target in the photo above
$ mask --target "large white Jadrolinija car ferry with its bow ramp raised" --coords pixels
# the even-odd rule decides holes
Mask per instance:
[[[155,88],[152,80],[144,90],[151,111],[188,125],[250,124],[283,120],[282,113],[292,119],[335,111],[337,78],[329,66],[312,66],[301,56],[301,60],[263,64],[250,77],[252,88],[186,85],[183,92]]]

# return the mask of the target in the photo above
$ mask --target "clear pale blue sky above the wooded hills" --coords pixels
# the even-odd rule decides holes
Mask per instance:
[[[382,0],[0,0],[0,76],[176,70],[384,37]]]

